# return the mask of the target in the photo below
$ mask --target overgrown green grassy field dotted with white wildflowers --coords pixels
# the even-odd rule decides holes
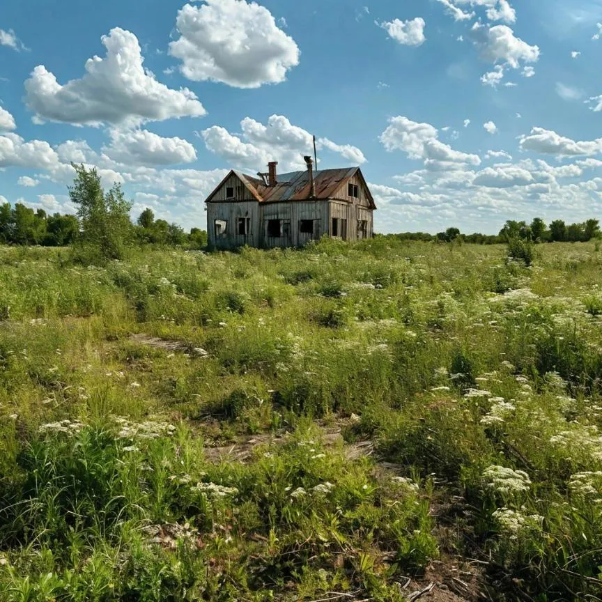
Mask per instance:
[[[601,599],[601,267],[0,247],[0,600]]]

